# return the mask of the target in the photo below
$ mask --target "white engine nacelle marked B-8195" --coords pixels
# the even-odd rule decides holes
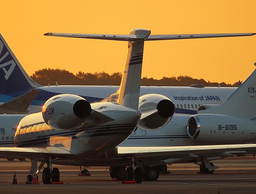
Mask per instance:
[[[188,135],[204,144],[249,143],[256,140],[256,122],[222,114],[197,114],[188,120]]]

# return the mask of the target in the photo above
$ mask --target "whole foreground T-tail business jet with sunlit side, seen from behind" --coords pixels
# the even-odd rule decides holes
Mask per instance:
[[[122,130],[124,129],[122,127],[106,127],[106,123],[108,122],[122,122],[126,124],[126,127],[132,125],[131,127],[128,127],[131,129],[137,125],[133,126],[137,121],[139,127],[147,130],[159,129],[167,124],[174,112],[174,105],[167,97],[163,95],[147,94],[140,97],[139,103],[139,83],[144,41],[249,36],[247,34],[150,35],[150,31],[144,29],[134,29],[129,32],[129,35],[53,33],[48,33],[47,35],[122,40],[128,41],[129,43],[127,59],[125,62],[126,66],[118,92],[117,103],[112,101],[111,96],[109,101],[89,104],[85,99],[75,95],[57,95],[50,98],[44,104],[42,113],[30,114],[21,120],[15,133],[16,148],[0,148],[0,156],[32,159],[32,173],[38,172],[42,168],[43,164],[47,163],[47,168],[44,168],[43,171],[44,183],[49,183],[50,179],[52,181],[59,179],[59,171],[56,168],[53,168],[51,171],[52,158],[63,162],[81,162],[83,160],[90,160],[94,157],[98,158],[102,155],[108,158],[108,153],[111,155],[113,153],[112,150],[116,150],[114,145],[116,144],[117,146],[118,141],[123,141],[123,139],[125,139],[125,137],[127,137],[127,135],[132,131],[128,130],[127,132],[127,130]],[[112,97],[115,95],[116,94],[112,95]],[[212,98],[214,99],[214,97]],[[60,105],[60,103],[63,104]],[[86,107],[89,107],[90,105],[90,109],[78,109],[80,107],[80,103]],[[59,107],[63,107],[63,110],[59,109]],[[91,109],[91,107],[93,108]],[[80,116],[83,112],[88,116]],[[125,118],[123,118],[123,116],[125,116]],[[129,119],[129,117],[131,119]],[[104,125],[99,123],[104,123]],[[78,125],[79,127],[76,128]],[[96,126],[102,126],[102,128],[97,129]],[[188,128],[190,129],[190,127]],[[113,132],[109,133],[109,130],[113,130]],[[118,134],[116,134],[117,131]],[[198,128],[196,133],[198,134]],[[28,148],[27,146],[32,148]],[[39,146],[43,147],[38,148]],[[160,146],[151,148],[137,146],[119,147],[118,150],[116,150],[116,154],[121,154],[125,157],[130,156],[130,167],[127,167],[125,171],[126,179],[132,180],[134,178],[138,183],[140,183],[142,181],[142,171],[144,169],[142,168],[142,163],[137,158],[191,153],[201,153],[205,155],[208,153],[233,150],[248,151],[256,149],[255,147],[255,145],[250,144],[189,147]],[[39,167],[36,165],[36,159],[42,160]],[[209,163],[207,163],[208,160],[203,161],[205,167],[211,170],[210,167],[207,166]],[[138,165],[136,169],[134,162]],[[28,176],[28,179],[30,179],[30,177],[31,176]]]

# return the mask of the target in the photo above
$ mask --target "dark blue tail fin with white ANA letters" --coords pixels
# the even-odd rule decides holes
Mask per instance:
[[[0,93],[41,86],[25,72],[0,34]]]

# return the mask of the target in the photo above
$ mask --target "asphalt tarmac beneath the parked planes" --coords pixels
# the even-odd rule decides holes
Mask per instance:
[[[213,162],[220,169],[214,174],[197,174],[197,164],[173,164],[169,174],[161,174],[158,181],[143,181],[141,184],[122,184],[109,176],[107,167],[89,167],[91,176],[78,176],[79,167],[54,165],[60,171],[64,184],[44,185],[40,172],[38,185],[26,185],[30,171],[29,161],[9,162],[0,160],[0,194],[255,194],[256,158],[233,157]],[[18,185],[12,185],[13,172]]]

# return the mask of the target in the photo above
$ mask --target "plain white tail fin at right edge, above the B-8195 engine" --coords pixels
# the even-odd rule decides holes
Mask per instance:
[[[222,104],[198,114],[224,114],[256,120],[256,70]]]

